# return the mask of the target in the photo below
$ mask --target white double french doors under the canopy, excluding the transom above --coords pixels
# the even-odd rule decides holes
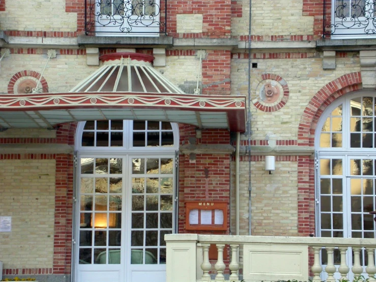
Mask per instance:
[[[78,282],[165,281],[174,225],[174,155],[78,156]]]

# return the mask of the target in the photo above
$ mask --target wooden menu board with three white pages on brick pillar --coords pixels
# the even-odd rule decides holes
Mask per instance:
[[[227,230],[227,203],[186,202],[186,230]]]

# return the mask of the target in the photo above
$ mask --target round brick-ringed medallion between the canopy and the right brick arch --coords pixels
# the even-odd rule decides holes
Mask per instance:
[[[263,74],[251,86],[252,103],[262,111],[281,109],[287,103],[289,95],[287,82],[275,74]]]

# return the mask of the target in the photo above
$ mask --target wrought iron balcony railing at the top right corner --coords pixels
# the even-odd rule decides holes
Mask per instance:
[[[324,0],[323,37],[376,35],[376,0]]]

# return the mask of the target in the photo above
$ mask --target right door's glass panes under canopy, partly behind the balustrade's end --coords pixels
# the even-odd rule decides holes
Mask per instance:
[[[173,228],[173,158],[132,158],[131,264],[165,264]]]

